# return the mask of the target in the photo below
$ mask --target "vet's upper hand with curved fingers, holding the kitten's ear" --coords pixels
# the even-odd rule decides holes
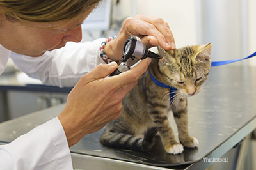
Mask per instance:
[[[105,52],[108,58],[115,61],[122,57],[122,48],[130,35],[138,36],[150,47],[160,45],[164,50],[176,49],[175,40],[167,22],[159,17],[136,15],[125,20],[115,40],[106,43]]]

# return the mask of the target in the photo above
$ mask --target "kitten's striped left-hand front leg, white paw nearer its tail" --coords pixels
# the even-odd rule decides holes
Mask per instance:
[[[159,135],[163,141],[164,148],[168,153],[178,154],[182,153],[183,146],[177,143],[175,136],[173,134],[172,127],[166,116],[166,109],[161,109],[162,111],[156,110],[156,107],[151,112],[152,120],[158,127]]]

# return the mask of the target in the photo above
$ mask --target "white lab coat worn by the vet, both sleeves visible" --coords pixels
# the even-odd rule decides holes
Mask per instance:
[[[14,54],[0,45],[0,74],[9,56],[15,65],[44,84],[74,86],[80,77],[99,63],[99,48],[104,39],[86,43],[67,43],[66,47],[31,58]],[[24,134],[10,144],[0,145],[0,169],[72,169],[70,150],[58,118]]]

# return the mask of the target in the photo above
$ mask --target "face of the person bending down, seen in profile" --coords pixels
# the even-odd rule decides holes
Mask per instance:
[[[33,22],[28,26],[21,22],[10,22],[0,13],[0,44],[17,54],[42,56],[46,51],[64,47],[67,42],[80,42],[81,24],[88,15],[83,13],[71,19],[71,22]]]

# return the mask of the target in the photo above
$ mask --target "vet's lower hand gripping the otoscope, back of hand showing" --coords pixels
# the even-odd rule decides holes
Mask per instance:
[[[150,61],[150,58],[143,59],[131,70],[112,77],[106,76],[117,68],[117,64],[101,64],[81,77],[70,91],[65,109],[58,116],[69,146],[120,116],[122,99],[136,86]]]

